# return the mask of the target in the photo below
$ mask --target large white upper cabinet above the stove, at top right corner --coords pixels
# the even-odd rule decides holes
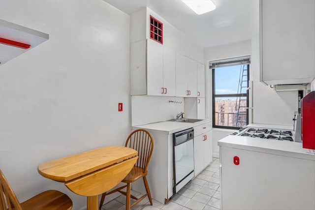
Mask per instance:
[[[260,0],[260,81],[281,85],[313,80],[314,8],[314,0]]]

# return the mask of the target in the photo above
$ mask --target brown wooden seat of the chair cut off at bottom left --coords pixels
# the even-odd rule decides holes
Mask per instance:
[[[23,210],[71,210],[72,201],[64,193],[47,190],[20,204]]]

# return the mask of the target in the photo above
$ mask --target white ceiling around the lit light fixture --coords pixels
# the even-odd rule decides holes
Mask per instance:
[[[217,8],[197,15],[181,0],[104,0],[131,14],[149,7],[202,47],[251,39],[258,34],[259,0],[212,0]]]

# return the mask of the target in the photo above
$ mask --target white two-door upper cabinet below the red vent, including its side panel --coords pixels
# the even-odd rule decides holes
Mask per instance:
[[[130,44],[130,94],[175,96],[175,52],[148,39]]]

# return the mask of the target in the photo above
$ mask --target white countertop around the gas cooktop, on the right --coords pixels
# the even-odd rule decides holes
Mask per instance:
[[[314,150],[303,149],[302,143],[299,142],[230,135],[218,141],[218,145],[221,147],[258,151],[315,161]]]

